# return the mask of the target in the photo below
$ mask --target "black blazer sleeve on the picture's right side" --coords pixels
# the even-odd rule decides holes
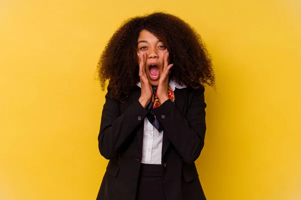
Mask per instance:
[[[202,87],[194,93],[186,116],[183,116],[170,99],[153,109],[171,143],[188,163],[194,162],[200,156],[204,146],[206,132],[204,90]]]

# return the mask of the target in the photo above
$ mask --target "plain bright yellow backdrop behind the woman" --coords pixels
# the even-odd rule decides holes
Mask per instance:
[[[207,199],[301,199],[299,0],[1,0],[0,199],[96,198],[96,63],[124,19],[155,10],[193,25],[213,57]]]

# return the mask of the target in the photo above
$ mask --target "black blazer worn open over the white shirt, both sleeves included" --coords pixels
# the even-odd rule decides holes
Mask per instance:
[[[105,96],[98,147],[109,159],[97,200],[135,200],[142,158],[143,118],[141,89],[135,86],[120,101]],[[175,89],[175,105],[165,101],[153,112],[164,127],[163,187],[167,200],[206,199],[195,165],[206,131],[204,87]]]

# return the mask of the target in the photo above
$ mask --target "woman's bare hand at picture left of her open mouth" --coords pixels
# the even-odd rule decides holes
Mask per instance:
[[[145,63],[146,63],[146,52],[143,51],[142,53],[137,52],[137,55],[139,57],[139,77],[140,77],[140,83],[141,83],[141,95],[139,97],[139,102],[141,105],[145,108],[146,105],[149,103],[150,98],[152,98],[153,95],[153,87],[150,85],[146,70],[145,70]]]

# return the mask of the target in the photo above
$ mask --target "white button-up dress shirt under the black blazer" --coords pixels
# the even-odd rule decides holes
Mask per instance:
[[[140,82],[138,82],[137,85],[141,87]],[[182,89],[187,87],[185,85],[178,84],[174,80],[170,80],[169,85],[173,88],[173,90],[175,90],[176,88]],[[177,96],[175,96],[175,100],[176,99]],[[161,164],[163,131],[159,132],[153,126],[153,124],[148,121],[147,117],[146,116],[144,117],[142,160],[141,160],[142,163]]]

